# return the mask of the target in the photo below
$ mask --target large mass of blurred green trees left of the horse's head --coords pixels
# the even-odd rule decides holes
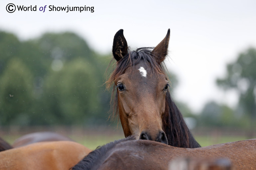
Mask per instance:
[[[106,122],[110,94],[101,56],[74,33],[20,42],[0,32],[0,125]]]

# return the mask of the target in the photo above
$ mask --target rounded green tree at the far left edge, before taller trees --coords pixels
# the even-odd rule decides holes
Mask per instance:
[[[11,59],[0,79],[0,123],[29,124],[33,85],[30,70],[18,58]]]

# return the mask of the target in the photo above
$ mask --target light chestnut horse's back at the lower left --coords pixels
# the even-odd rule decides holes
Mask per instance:
[[[0,152],[1,170],[63,170],[78,163],[91,152],[70,141],[37,142]]]

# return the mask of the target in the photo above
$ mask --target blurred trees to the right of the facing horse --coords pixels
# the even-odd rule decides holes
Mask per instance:
[[[239,127],[256,130],[256,49],[249,47],[226,66],[226,75],[216,79],[225,91],[233,90],[238,103],[230,108],[224,103],[209,101],[197,116],[198,126]]]

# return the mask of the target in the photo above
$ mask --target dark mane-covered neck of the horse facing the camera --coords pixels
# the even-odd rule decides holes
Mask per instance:
[[[163,131],[166,133],[168,144],[175,147],[196,148],[200,145],[193,138],[183,116],[171,98],[166,94],[165,114],[163,117]]]

